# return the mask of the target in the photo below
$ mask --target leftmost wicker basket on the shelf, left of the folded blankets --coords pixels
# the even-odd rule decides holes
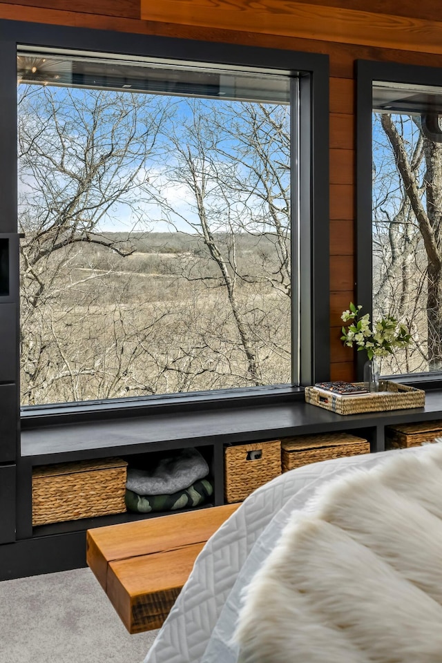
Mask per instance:
[[[32,525],[126,511],[126,461],[40,465],[32,471]]]

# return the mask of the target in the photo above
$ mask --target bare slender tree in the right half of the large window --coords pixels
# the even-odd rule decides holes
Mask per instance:
[[[278,354],[285,365],[290,357],[287,334],[267,329],[262,335],[262,288],[291,294],[289,113],[282,106],[247,102],[189,100],[187,106],[187,119],[175,122],[169,132],[172,152],[157,200],[172,227],[184,224],[204,242],[206,253],[198,260],[188,258],[182,276],[223,289],[247,361],[246,383],[262,385],[268,383],[262,373],[268,354]],[[185,211],[168,198],[177,186],[184,188],[189,203]],[[253,263],[240,265],[238,240],[244,233],[256,238],[256,247],[271,247],[271,267],[261,264],[251,271]],[[210,267],[202,269],[202,260],[213,262],[215,275]],[[278,298],[273,299],[273,322],[287,330],[289,300],[275,315],[278,306]],[[278,337],[284,338],[280,344]]]

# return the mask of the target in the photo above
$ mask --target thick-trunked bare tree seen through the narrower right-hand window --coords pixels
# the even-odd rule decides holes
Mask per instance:
[[[424,354],[428,369],[434,371],[442,369],[442,152],[440,144],[421,133],[419,119],[413,121],[417,139],[411,148],[411,120],[408,120],[407,131],[405,122],[406,118],[381,114],[381,127],[394,154],[402,191],[401,209],[389,222],[391,258],[385,279],[391,280],[394,269],[401,270],[401,313],[406,299],[414,298],[416,303],[416,294],[425,293],[427,350]],[[425,249],[425,265],[413,259],[419,253],[420,243]],[[425,283],[419,287],[414,282],[414,292],[412,273],[425,275]]]

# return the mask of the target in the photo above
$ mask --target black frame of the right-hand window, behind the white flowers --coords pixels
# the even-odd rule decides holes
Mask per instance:
[[[442,87],[442,69],[372,60],[356,61],[356,301],[372,316],[372,112],[373,83]],[[358,355],[358,377],[365,357]],[[392,376],[398,380],[398,376]],[[404,374],[401,383],[440,389],[442,372]]]

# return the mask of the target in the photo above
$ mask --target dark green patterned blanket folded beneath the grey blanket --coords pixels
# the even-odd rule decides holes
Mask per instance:
[[[189,488],[178,490],[171,495],[138,495],[126,488],[128,511],[150,513],[151,511],[173,511],[204,504],[213,494],[213,486],[207,479],[195,481]]]

